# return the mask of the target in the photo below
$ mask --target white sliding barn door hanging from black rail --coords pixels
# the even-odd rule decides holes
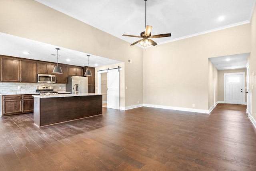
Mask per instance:
[[[108,108],[120,107],[120,69],[108,70]]]

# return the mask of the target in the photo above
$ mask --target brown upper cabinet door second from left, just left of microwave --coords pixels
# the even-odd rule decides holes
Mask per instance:
[[[36,82],[36,62],[20,61],[20,81]]]

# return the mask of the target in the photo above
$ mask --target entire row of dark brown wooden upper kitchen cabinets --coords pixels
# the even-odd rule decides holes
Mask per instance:
[[[36,74],[54,74],[55,63],[16,58],[0,55],[1,82],[29,82],[36,83]],[[63,74],[56,75],[56,83],[67,84],[68,76],[84,76],[87,67],[59,64]],[[95,68],[89,67],[92,76],[88,77],[88,87],[94,92]]]

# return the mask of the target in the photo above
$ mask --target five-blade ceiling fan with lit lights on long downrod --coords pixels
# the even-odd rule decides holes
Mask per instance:
[[[141,40],[138,40],[138,41],[134,42],[130,46],[135,45],[139,42],[140,42],[140,45],[143,46],[143,47],[151,46],[151,45],[156,46],[157,43],[154,42],[153,40],[151,40],[150,38],[164,38],[164,37],[170,37],[171,36],[170,33],[158,34],[158,35],[151,36],[152,26],[146,25],[146,19],[147,19],[146,4],[147,4],[147,0],[144,0],[144,1],[145,1],[145,32],[141,32],[140,36],[132,36],[132,35],[127,35],[127,34],[122,35],[122,36],[129,36],[129,37],[135,37],[135,38],[142,38]]]

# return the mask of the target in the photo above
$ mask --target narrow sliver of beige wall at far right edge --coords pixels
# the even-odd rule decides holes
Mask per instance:
[[[256,120],[256,8],[251,20],[250,90],[252,91],[252,117]],[[252,73],[254,72],[254,76]],[[254,89],[252,89],[252,86]]]

